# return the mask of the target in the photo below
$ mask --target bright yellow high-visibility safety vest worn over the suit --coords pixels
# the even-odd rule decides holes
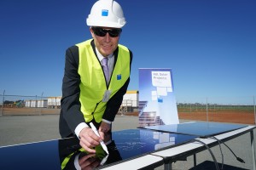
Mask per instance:
[[[119,54],[109,87],[105,81],[102,65],[90,45],[92,40],[76,44],[79,47],[79,75],[80,75],[80,98],[81,111],[84,114],[85,122],[90,122],[93,116],[96,122],[102,121],[106,110],[102,97],[108,89],[111,91],[110,98],[125,84],[130,77],[130,53],[128,48],[119,45]]]

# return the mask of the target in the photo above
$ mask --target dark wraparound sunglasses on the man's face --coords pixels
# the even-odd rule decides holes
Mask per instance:
[[[96,36],[99,37],[105,37],[107,33],[110,37],[119,37],[120,33],[122,32],[122,29],[120,28],[113,28],[107,30],[101,27],[91,27],[91,29],[96,34]]]

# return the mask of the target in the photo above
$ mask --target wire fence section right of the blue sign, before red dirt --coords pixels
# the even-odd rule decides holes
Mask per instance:
[[[256,124],[255,97],[177,100],[180,119]]]

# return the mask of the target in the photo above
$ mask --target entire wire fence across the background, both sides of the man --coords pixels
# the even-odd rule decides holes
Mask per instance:
[[[119,113],[137,116],[138,105],[138,100],[124,99]],[[60,108],[61,97],[0,94],[0,116],[60,114]],[[177,98],[177,112],[180,119],[186,120],[256,124],[254,96]]]

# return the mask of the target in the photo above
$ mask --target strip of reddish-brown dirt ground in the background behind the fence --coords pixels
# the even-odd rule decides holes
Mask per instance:
[[[0,108],[0,115],[14,116],[14,115],[51,115],[60,114],[60,109],[48,108]],[[119,113],[120,115],[121,113]],[[123,113],[126,116],[138,116],[138,112]],[[209,122],[233,122],[242,124],[255,124],[255,117],[253,112],[245,113],[239,111],[218,111],[209,112],[179,112],[179,119],[195,120],[195,121],[209,121]]]

